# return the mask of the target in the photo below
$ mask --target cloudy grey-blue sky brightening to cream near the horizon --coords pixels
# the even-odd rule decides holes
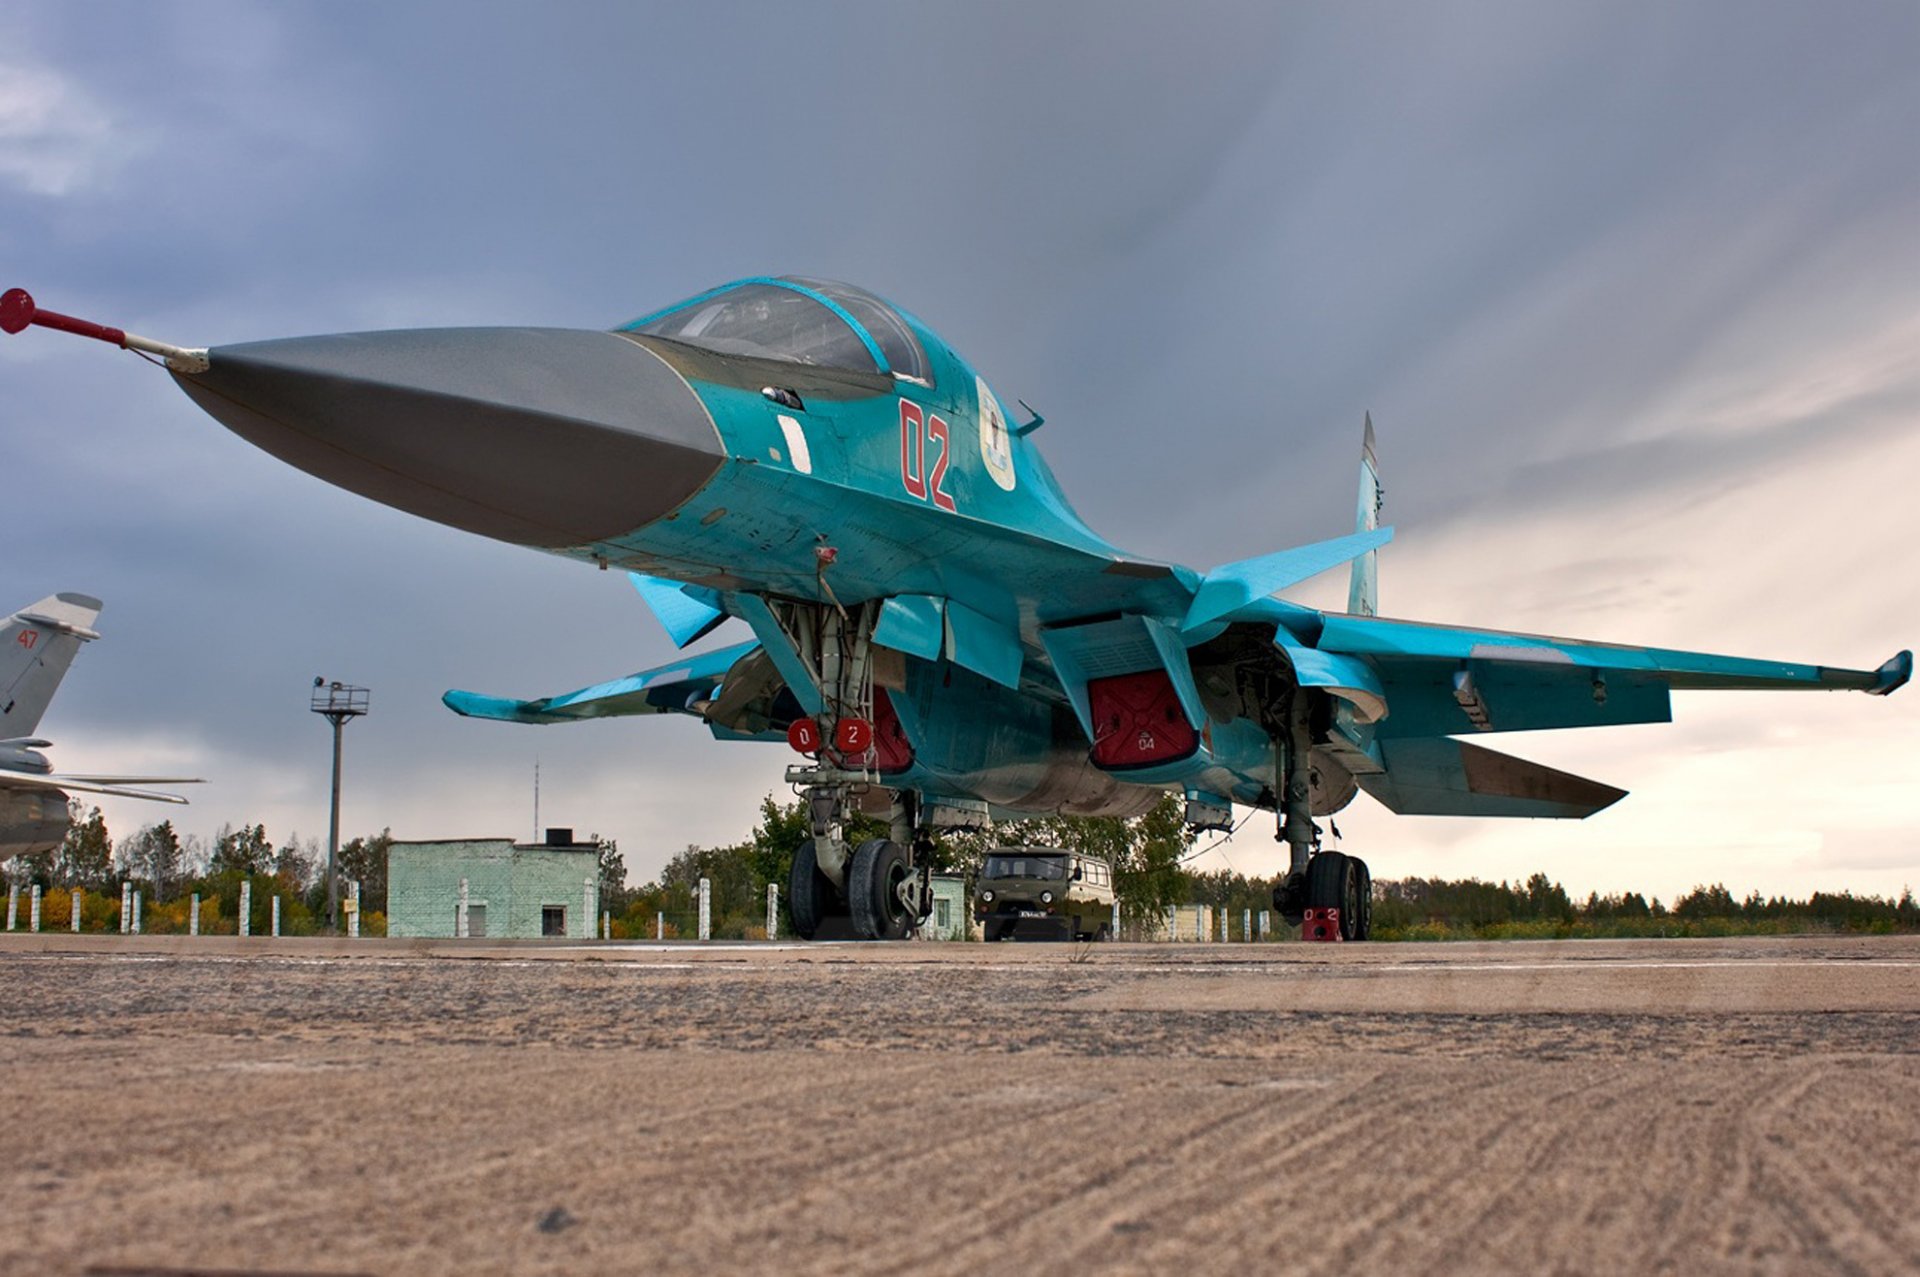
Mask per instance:
[[[1198,566],[1336,536],[1382,611],[1874,666],[1920,639],[1920,10],[1889,4],[0,4],[0,286],[163,340],[611,326],[883,292],[1048,417],[1083,515]],[[513,728],[672,657],[618,574],[326,488],[156,369],[0,340],[0,611],[106,599],[42,730],[324,835],[739,837],[778,747]],[[1340,582],[1296,597],[1338,605]],[[1340,818],[1377,876],[1920,887],[1920,693],[1692,693],[1505,737],[1576,824]],[[108,805],[117,833],[152,807]],[[1258,818],[1208,864],[1271,872]]]

